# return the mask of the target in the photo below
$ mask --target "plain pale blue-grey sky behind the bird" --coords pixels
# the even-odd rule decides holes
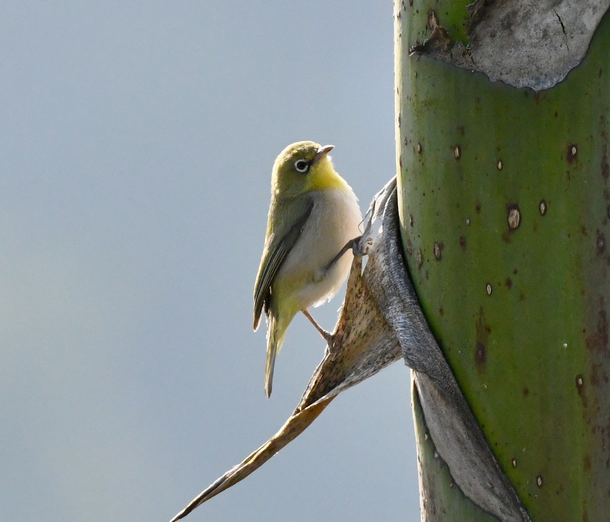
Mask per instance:
[[[334,144],[363,211],[395,174],[392,2],[13,0],[0,67],[0,518],[167,521],[323,356],[296,317],[267,400],[271,165]],[[418,520],[409,383],[343,393],[185,520]]]

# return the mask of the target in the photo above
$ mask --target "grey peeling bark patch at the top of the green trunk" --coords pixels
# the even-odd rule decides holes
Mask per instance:
[[[610,0],[477,0],[468,5],[468,42],[448,45],[437,13],[411,51],[484,72],[492,82],[540,91],[561,82],[586,55]]]

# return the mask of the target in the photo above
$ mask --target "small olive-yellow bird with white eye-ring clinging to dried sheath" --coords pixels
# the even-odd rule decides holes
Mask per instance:
[[[358,199],[332,166],[333,145],[299,141],[273,164],[267,235],[254,284],[254,331],[267,316],[265,392],[271,396],[275,357],[286,329],[302,311],[329,301],[350,272],[350,241],[361,235]]]

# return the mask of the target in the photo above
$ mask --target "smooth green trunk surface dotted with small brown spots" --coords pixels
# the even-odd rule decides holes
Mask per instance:
[[[452,40],[467,3],[431,4]],[[610,17],[583,63],[534,93],[409,57],[429,35],[429,7],[412,4],[395,7],[397,155],[423,311],[532,520],[610,520]],[[426,520],[492,520],[415,412]]]

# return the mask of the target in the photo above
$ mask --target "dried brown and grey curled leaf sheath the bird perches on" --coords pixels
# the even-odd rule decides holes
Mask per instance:
[[[342,390],[401,356],[415,370],[432,440],[438,442],[437,450],[456,484],[473,502],[502,520],[529,520],[423,319],[401,253],[395,181],[386,186],[386,192],[390,197],[379,196],[385,203],[381,232],[364,272],[362,257],[354,256],[332,347],[295,411],[267,443],[213,482],[171,522],[246,478],[303,432]],[[366,241],[365,236],[362,243]]]

